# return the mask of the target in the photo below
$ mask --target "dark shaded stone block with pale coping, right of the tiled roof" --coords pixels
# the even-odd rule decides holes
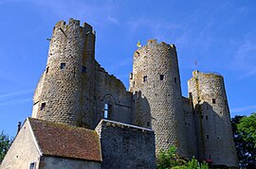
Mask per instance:
[[[101,138],[102,169],[155,169],[153,130],[109,120],[101,120],[96,130]]]

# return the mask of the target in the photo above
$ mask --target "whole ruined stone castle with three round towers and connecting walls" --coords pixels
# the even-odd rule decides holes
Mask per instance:
[[[182,157],[238,166],[223,76],[194,71],[189,97],[184,97],[174,44],[149,40],[134,53],[127,92],[95,59],[95,40],[92,26],[81,26],[80,21],[54,26],[32,118],[91,130],[97,130],[102,119],[142,129],[139,132],[148,128],[155,131],[155,143],[149,139],[147,144],[155,146],[156,154],[175,145]]]

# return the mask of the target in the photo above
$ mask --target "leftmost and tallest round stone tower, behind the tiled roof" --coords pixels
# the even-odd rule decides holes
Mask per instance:
[[[34,93],[32,117],[92,127],[95,32],[70,19],[57,23],[49,39],[46,70]]]

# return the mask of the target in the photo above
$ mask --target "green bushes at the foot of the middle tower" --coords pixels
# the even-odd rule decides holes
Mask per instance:
[[[194,157],[191,161],[178,157],[175,146],[171,146],[167,151],[160,151],[156,158],[157,169],[199,169],[200,167],[209,169],[206,162],[200,164]]]

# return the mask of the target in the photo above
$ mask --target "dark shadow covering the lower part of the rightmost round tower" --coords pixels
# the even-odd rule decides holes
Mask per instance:
[[[195,127],[200,161],[211,161],[214,167],[228,167],[234,156],[229,108],[213,108],[208,102],[195,105]],[[229,165],[230,166],[230,165]]]

